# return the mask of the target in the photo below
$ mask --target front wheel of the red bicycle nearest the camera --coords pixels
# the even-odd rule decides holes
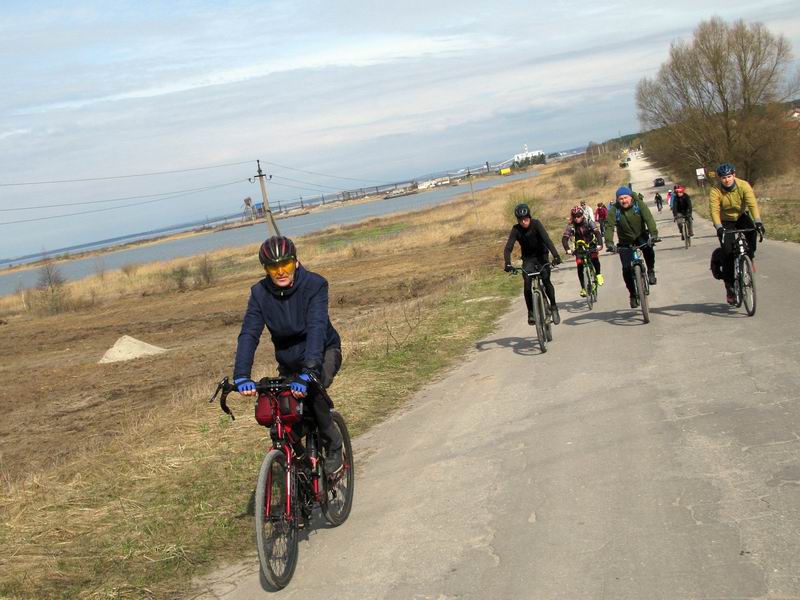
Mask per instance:
[[[298,511],[294,481],[286,467],[286,455],[280,450],[270,450],[261,463],[256,487],[256,549],[264,578],[278,590],[288,585],[297,566]]]

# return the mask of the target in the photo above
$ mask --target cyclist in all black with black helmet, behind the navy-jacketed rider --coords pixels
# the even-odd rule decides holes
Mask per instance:
[[[523,270],[533,272],[542,269],[542,286],[548,300],[550,300],[550,306],[553,308],[553,323],[558,325],[561,322],[561,317],[558,314],[558,306],[556,305],[556,290],[550,281],[548,252],[553,255],[553,265],[560,264],[561,257],[550,240],[550,236],[547,235],[544,225],[542,225],[541,221],[531,217],[531,209],[527,204],[517,204],[516,208],[514,208],[514,216],[517,218],[517,224],[511,228],[508,242],[506,242],[506,247],[503,250],[505,270],[506,272],[514,270],[514,267],[511,266],[511,251],[514,249],[514,244],[519,242],[519,247],[522,251]],[[522,292],[525,296],[525,305],[528,307],[528,323],[533,325],[536,320],[533,315],[531,282],[527,275],[523,277]]]

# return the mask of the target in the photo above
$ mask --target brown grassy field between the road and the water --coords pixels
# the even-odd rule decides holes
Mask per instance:
[[[530,202],[560,246],[569,207],[609,199],[621,177],[603,167],[598,186],[578,192],[576,169],[548,165],[476,192],[477,206],[466,195],[296,240],[301,262],[330,282],[344,352],[331,393],[351,433],[457,360],[517,298],[518,278],[500,269],[516,202]],[[0,597],[180,597],[192,576],[252,552],[267,432],[239,397],[235,422],[207,399],[231,372],[263,271],[254,245],[208,259],[214,281],[183,292],[169,273],[198,259],[69,283],[74,308],[60,314],[0,299]],[[123,334],[169,351],[98,365]],[[273,374],[271,350],[265,336],[255,376]]]

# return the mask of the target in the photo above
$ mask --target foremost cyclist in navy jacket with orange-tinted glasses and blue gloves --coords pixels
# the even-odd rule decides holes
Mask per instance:
[[[327,446],[325,471],[335,473],[342,466],[342,438],[311,377],[327,388],[342,364],[341,339],[328,317],[328,282],[299,263],[289,238],[269,238],[261,244],[258,258],[266,277],[250,288],[233,383],[240,394],[256,395],[251,369],[266,327],[275,347],[278,373],[292,378],[295,397],[306,398],[305,405],[311,408]]]

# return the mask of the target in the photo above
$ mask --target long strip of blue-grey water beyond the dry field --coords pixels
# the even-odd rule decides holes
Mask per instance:
[[[473,182],[475,190],[508,183],[519,179],[535,176],[536,173],[520,173],[503,177]],[[278,221],[282,235],[295,237],[314,231],[322,231],[335,225],[347,225],[363,221],[371,217],[384,216],[396,212],[419,210],[451,200],[455,196],[469,193],[467,185],[448,186],[420,192],[411,196],[403,196],[392,200],[375,200],[363,204],[341,204],[336,208],[329,208],[306,215],[297,215]],[[208,234],[168,240],[142,246],[127,248],[115,252],[108,252],[98,256],[69,260],[59,263],[61,274],[68,280],[81,279],[97,272],[98,265],[102,264],[106,270],[119,269],[129,263],[147,263],[154,261],[170,260],[186,256],[196,256],[219,248],[243,246],[263,241],[267,237],[267,227],[263,221],[247,227],[215,231]],[[30,288],[36,285],[39,269],[29,269],[17,273],[0,275],[0,295],[11,294],[20,288]]]

